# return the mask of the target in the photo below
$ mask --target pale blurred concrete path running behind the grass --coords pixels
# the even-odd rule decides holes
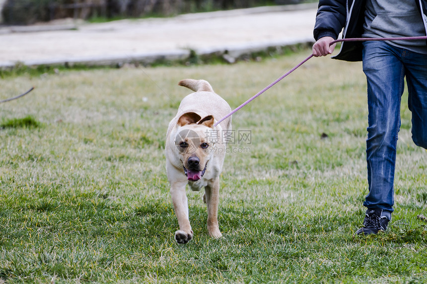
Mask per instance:
[[[101,24],[0,28],[0,67],[112,64],[197,54],[239,54],[313,42],[317,3],[258,7]]]

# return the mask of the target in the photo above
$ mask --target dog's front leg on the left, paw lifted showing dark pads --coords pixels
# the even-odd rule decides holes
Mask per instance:
[[[185,194],[186,183],[175,182],[171,184],[170,195],[178,218],[179,230],[175,232],[175,240],[178,243],[187,243],[193,238],[190,220],[188,218],[188,201]]]

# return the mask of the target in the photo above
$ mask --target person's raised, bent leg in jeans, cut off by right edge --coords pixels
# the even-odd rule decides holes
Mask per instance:
[[[427,149],[427,55],[408,52],[403,57],[412,112],[412,140]]]

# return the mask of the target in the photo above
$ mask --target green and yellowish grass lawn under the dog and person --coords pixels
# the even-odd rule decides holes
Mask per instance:
[[[407,94],[393,220],[387,233],[355,236],[367,194],[365,78],[360,63],[329,58],[310,59],[233,116],[251,141],[225,158],[223,238],[207,236],[202,193],[188,191],[195,235],[175,243],[163,149],[190,93],[178,81],[206,79],[235,108],[308,53],[4,77],[0,99],[35,90],[0,105],[1,280],[426,283],[427,224],[416,216],[426,215],[427,153],[411,140]]]

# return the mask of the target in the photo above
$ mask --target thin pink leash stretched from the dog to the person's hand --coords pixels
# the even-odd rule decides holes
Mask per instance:
[[[422,36],[422,37],[401,37],[401,38],[353,38],[353,39],[339,39],[339,40],[335,40],[335,41],[331,42],[330,46],[333,45],[333,44],[335,44],[335,43],[338,43],[338,42],[413,41],[413,40],[427,40],[427,36]],[[286,72],[285,75],[282,75],[281,77],[279,77],[278,79],[276,79],[273,83],[271,83],[270,85],[268,85],[267,87],[265,87],[264,89],[262,89],[258,94],[256,94],[255,96],[253,96],[252,98],[250,98],[249,100],[247,100],[246,102],[244,102],[243,104],[241,104],[239,107],[237,107],[234,111],[232,111],[231,113],[229,113],[229,114],[225,115],[224,117],[222,117],[220,120],[218,120],[214,124],[214,126],[218,125],[222,120],[226,119],[230,115],[234,114],[235,112],[237,112],[238,110],[240,110],[241,108],[243,108],[244,106],[246,106],[247,104],[249,104],[250,102],[252,102],[253,100],[255,100],[262,93],[264,93],[265,91],[267,91],[268,89],[270,89],[271,87],[273,87],[274,85],[276,85],[280,80],[282,80],[283,78],[285,78],[287,75],[289,75],[290,73],[292,73],[293,71],[295,71],[296,68],[298,68],[299,66],[301,66],[302,64],[304,64],[311,57],[313,57],[313,54],[311,54],[309,57],[307,57],[304,60],[302,60],[301,62],[299,62],[295,67],[293,67],[288,72]]]

